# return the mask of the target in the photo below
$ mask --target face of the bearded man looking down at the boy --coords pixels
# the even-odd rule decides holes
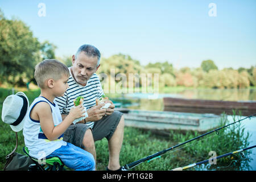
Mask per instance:
[[[87,56],[84,52],[80,52],[79,56],[75,59],[75,55],[72,56],[72,73],[76,82],[85,86],[90,77],[98,70],[97,56]]]

